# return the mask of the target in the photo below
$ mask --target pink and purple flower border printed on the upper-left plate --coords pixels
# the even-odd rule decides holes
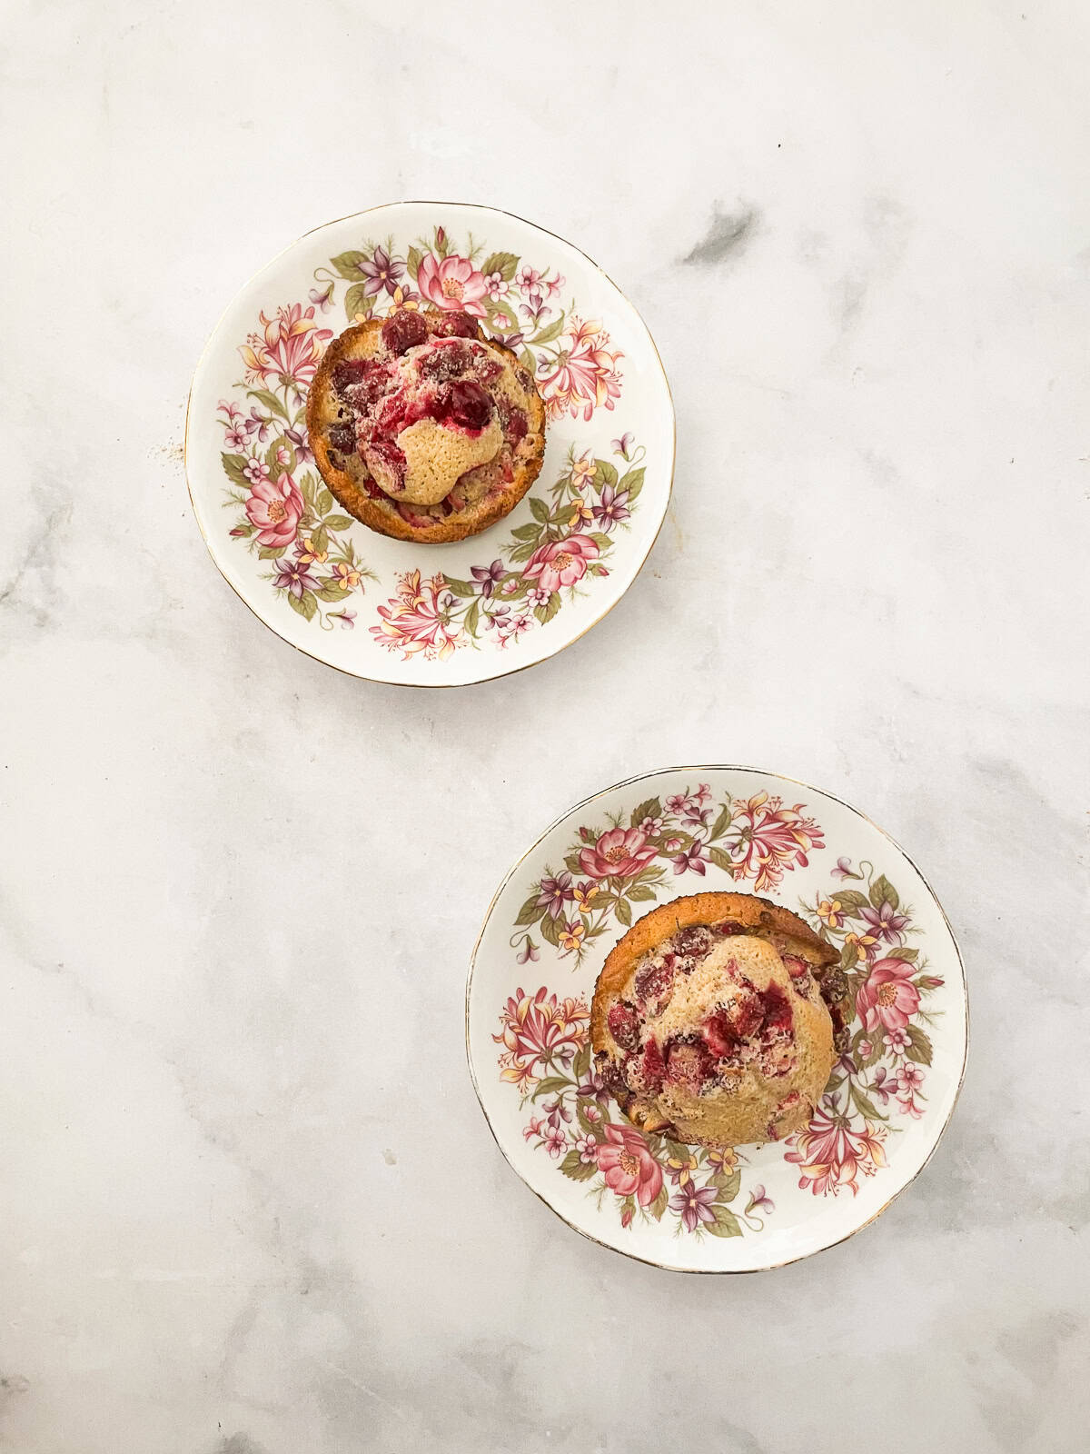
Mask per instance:
[[[307,391],[333,329],[320,314],[343,295],[349,323],[404,307],[459,308],[513,349],[538,381],[548,419],[589,423],[612,410],[623,387],[623,353],[599,320],[574,301],[561,307],[565,279],[514,253],[491,252],[469,234],[459,249],[436,227],[400,253],[394,240],[366,241],[315,269],[308,302],[259,316],[238,346],[244,377],[238,398],[221,400],[222,468],[230,481],[230,534],[269,563],[263,579],[307,621],[350,630],[365,583],[378,580],[352,544],[353,521],[340,512],[314,470],[305,427]],[[577,599],[606,564],[618,531],[626,531],[644,486],[642,445],[631,433],[612,455],[573,446],[548,497],[529,497],[532,519],[514,528],[490,564],[469,579],[408,570],[376,606],[371,635],[403,660],[446,659],[461,647],[503,650],[546,625]],[[356,609],[353,609],[356,608]]]

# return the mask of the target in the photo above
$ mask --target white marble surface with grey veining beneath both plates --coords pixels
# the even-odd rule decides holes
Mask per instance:
[[[0,1448],[1084,1448],[1086,7],[13,0],[4,31]],[[677,403],[626,601],[436,695],[266,631],[180,464],[237,285],[400,196],[586,247]],[[512,858],[683,759],[878,819],[974,996],[916,1185],[728,1281],[552,1218],[462,1045]]]

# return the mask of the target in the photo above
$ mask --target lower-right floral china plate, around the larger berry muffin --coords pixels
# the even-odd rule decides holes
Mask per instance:
[[[805,1130],[716,1152],[638,1131],[594,1075],[613,944],[702,890],[762,894],[840,951],[840,1059]],[[753,768],[670,768],[565,813],[504,878],[474,949],[467,1051],[510,1165],[568,1226],[685,1272],[754,1272],[850,1237],[953,1112],[968,1002],[946,916],[855,808]]]

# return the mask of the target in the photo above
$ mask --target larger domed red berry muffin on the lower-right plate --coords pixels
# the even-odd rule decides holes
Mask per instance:
[[[596,1069],[647,1131],[703,1146],[780,1140],[807,1124],[836,1061],[839,960],[767,899],[661,904],[594,986]]]

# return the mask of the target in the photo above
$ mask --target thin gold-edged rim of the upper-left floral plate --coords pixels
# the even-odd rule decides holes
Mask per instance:
[[[289,641],[288,637],[282,635],[276,630],[276,627],[272,625],[269,621],[266,621],[266,618],[257,611],[257,608],[253,606],[246,599],[246,596],[238,590],[238,587],[234,585],[234,582],[230,580],[230,577],[227,576],[225,570],[222,569],[222,566],[217,560],[217,555],[215,555],[215,551],[212,550],[212,545],[211,545],[211,541],[208,538],[208,534],[205,532],[203,523],[201,522],[201,513],[199,513],[199,510],[196,507],[196,500],[193,499],[193,478],[192,478],[192,473],[190,473],[190,468],[189,468],[189,432],[190,432],[190,416],[192,416],[193,390],[196,388],[196,381],[201,377],[201,372],[202,372],[202,369],[203,369],[203,366],[205,366],[205,364],[208,361],[208,355],[209,355],[209,350],[212,348],[212,340],[219,333],[219,329],[222,327],[224,320],[227,318],[228,313],[234,307],[235,300],[243,292],[246,292],[246,289],[250,288],[257,281],[257,278],[260,278],[260,275],[263,272],[266,272],[269,268],[272,268],[275,263],[278,263],[294,247],[298,247],[298,244],[301,241],[304,241],[304,238],[311,237],[314,233],[321,233],[327,227],[336,227],[339,222],[355,221],[355,218],[358,218],[358,217],[371,217],[375,212],[385,212],[385,211],[391,211],[394,208],[401,208],[401,206],[436,206],[436,208],[439,208],[439,206],[464,206],[464,208],[472,208],[474,211],[478,211],[478,212],[491,212],[496,217],[506,217],[506,218],[510,218],[510,220],[513,220],[516,222],[522,222],[523,227],[530,227],[536,233],[544,233],[546,237],[552,237],[555,241],[562,243],[565,247],[570,247],[573,252],[578,253],[580,257],[583,257],[596,272],[602,273],[602,276],[606,279],[606,282],[612,288],[616,289],[616,292],[621,295],[621,298],[623,298],[623,301],[632,310],[632,313],[635,314],[635,317],[639,321],[641,327],[647,333],[648,342],[651,343],[651,352],[654,353],[655,364],[658,365],[658,372],[661,374],[663,384],[666,385],[666,400],[667,400],[667,404],[669,404],[669,409],[670,409],[670,478],[669,478],[667,487],[666,487],[666,500],[663,503],[663,515],[661,515],[661,519],[658,521],[658,525],[655,526],[655,532],[651,537],[651,542],[647,547],[647,551],[644,553],[639,564],[635,569],[635,573],[634,573],[632,580],[629,582],[629,585],[621,592],[621,595],[618,595],[613,601],[610,601],[610,603],[605,608],[605,611],[600,615],[594,616],[593,621],[590,621],[586,627],[583,627],[583,630],[577,635],[574,635],[570,640],[564,641],[562,646],[557,646],[546,656],[539,656],[533,662],[525,662],[522,666],[513,666],[513,667],[510,667],[510,669],[507,669],[504,672],[494,672],[490,676],[472,678],[468,682],[407,682],[407,680],[401,680],[401,679],[392,678],[392,676],[372,676],[372,675],[365,673],[365,672],[353,672],[347,666],[337,666],[334,662],[327,662],[326,657],[318,656],[314,651],[308,651],[305,646],[298,646],[295,641]],[[272,631],[272,634],[278,640],[283,641],[285,646],[292,647],[292,650],[299,651],[302,656],[308,656],[312,662],[318,662],[321,666],[330,667],[334,672],[340,672],[343,676],[352,678],[356,682],[375,682],[375,683],[379,683],[382,686],[408,686],[408,688],[414,688],[417,691],[432,691],[432,692],[433,691],[456,691],[456,689],[468,688],[468,686],[483,686],[485,682],[498,682],[498,680],[503,680],[506,676],[517,676],[519,672],[529,672],[535,666],[542,666],[545,662],[551,662],[554,657],[560,656],[561,651],[565,651],[570,646],[574,646],[577,641],[581,641],[583,637],[589,631],[593,631],[594,627],[600,625],[602,621],[605,621],[605,618],[609,615],[609,612],[625,599],[625,596],[628,595],[628,592],[632,589],[632,586],[639,579],[639,574],[642,573],[644,566],[647,564],[647,561],[648,561],[648,558],[651,555],[651,551],[655,548],[655,544],[658,542],[658,537],[663,532],[663,526],[666,525],[666,516],[667,516],[667,513],[670,510],[670,502],[673,499],[673,490],[674,490],[674,471],[676,471],[676,467],[677,467],[677,409],[674,406],[673,390],[670,388],[670,375],[666,372],[666,365],[663,364],[663,356],[658,352],[658,345],[655,343],[655,339],[654,339],[654,334],[651,333],[651,329],[647,326],[647,320],[644,318],[642,313],[637,308],[637,305],[632,302],[632,300],[628,297],[628,294],[623,291],[623,288],[621,288],[613,281],[613,278],[610,278],[610,275],[606,272],[606,269],[600,263],[594,262],[594,259],[589,253],[586,253],[581,247],[578,247],[576,243],[568,241],[567,237],[561,237],[560,233],[554,233],[551,228],[542,227],[539,222],[530,222],[529,218],[520,217],[517,212],[509,212],[506,208],[491,206],[487,202],[452,202],[449,199],[445,201],[445,202],[442,202],[442,201],[430,201],[427,198],[401,198],[401,199],[398,199],[395,202],[379,202],[375,206],[362,208],[359,212],[346,212],[343,217],[333,217],[327,222],[318,222],[315,227],[308,227],[305,233],[299,233],[299,236],[295,237],[291,243],[286,243],[278,253],[273,253],[273,256],[267,262],[262,263],[262,266],[256,272],[253,272],[246,279],[246,282],[243,282],[238,288],[235,288],[235,291],[231,295],[231,298],[228,298],[228,301],[224,304],[224,307],[222,307],[222,310],[219,313],[219,317],[217,318],[215,324],[212,326],[211,333],[205,339],[203,348],[201,349],[201,353],[198,356],[196,365],[193,368],[193,377],[189,381],[189,394],[186,395],[186,419],[185,419],[185,429],[183,429],[183,439],[182,439],[182,462],[183,462],[183,470],[185,470],[185,477],[186,477],[186,493],[189,494],[189,507],[190,507],[190,512],[192,512],[193,519],[196,522],[196,528],[201,531],[201,538],[205,542],[205,550],[208,551],[208,554],[209,554],[209,557],[212,560],[212,564],[219,571],[219,576],[222,577],[222,580],[227,582],[227,585],[231,587],[231,590],[235,593],[235,596],[247,608],[247,611],[250,611],[257,618],[257,621],[262,622],[262,625],[267,631]]]

